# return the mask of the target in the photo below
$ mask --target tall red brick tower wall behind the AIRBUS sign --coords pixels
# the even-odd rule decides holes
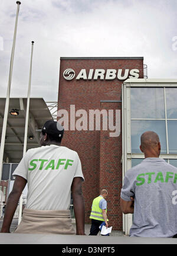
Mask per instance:
[[[121,103],[100,103],[100,100],[121,100],[122,83],[114,80],[76,80],[67,81],[63,72],[72,68],[76,75],[81,69],[139,69],[139,78],[143,78],[143,59],[65,59],[60,60],[60,79],[58,90],[58,110],[70,113],[70,105],[76,111],[83,109],[102,110],[119,109]],[[77,118],[76,118],[77,120]],[[89,123],[89,117],[88,117]],[[89,127],[89,126],[88,126]],[[122,126],[121,126],[122,127]],[[86,203],[86,223],[90,223],[91,203],[99,196],[102,188],[109,191],[108,216],[113,229],[122,230],[122,212],[120,211],[120,189],[122,187],[122,133],[119,137],[109,137],[109,131],[103,130],[69,130],[65,131],[63,146],[78,152],[81,159],[85,182],[83,193]],[[107,157],[109,156],[109,161]]]

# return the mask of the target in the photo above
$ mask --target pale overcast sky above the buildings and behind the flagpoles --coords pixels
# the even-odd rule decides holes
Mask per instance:
[[[6,97],[17,4],[0,0],[0,95]],[[177,0],[21,0],[11,97],[57,101],[60,57],[143,56],[149,78],[177,78]]]

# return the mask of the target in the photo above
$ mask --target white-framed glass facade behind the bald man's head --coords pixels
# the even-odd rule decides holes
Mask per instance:
[[[140,135],[152,130],[158,133],[161,154],[168,154],[167,160],[177,167],[177,159],[170,159],[177,154],[177,88],[166,87],[131,87],[131,151],[142,153],[139,149]],[[176,155],[177,156],[177,155]],[[133,159],[132,166],[142,159]]]

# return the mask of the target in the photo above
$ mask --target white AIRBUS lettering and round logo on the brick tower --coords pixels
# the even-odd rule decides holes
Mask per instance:
[[[68,68],[63,72],[64,79],[71,80],[75,77],[73,69]],[[139,78],[139,69],[90,69],[86,72],[86,69],[81,71],[76,76],[76,80],[113,80],[113,79],[125,80],[127,78]]]

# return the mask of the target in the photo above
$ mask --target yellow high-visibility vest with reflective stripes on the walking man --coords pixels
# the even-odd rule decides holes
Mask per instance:
[[[101,199],[103,199],[103,197],[98,196],[93,200],[90,219],[104,221],[102,209],[99,207],[99,203]],[[106,213],[107,213],[107,209],[106,209]]]

